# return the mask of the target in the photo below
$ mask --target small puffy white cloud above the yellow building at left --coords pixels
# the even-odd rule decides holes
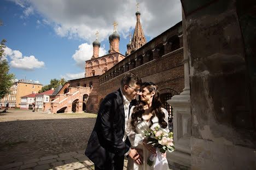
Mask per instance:
[[[4,49],[5,57],[9,56],[11,68],[21,69],[21,70],[34,70],[35,68],[42,68],[44,62],[39,62],[34,56],[24,56],[22,58],[22,53],[18,50],[11,50],[11,48],[6,47]]]

